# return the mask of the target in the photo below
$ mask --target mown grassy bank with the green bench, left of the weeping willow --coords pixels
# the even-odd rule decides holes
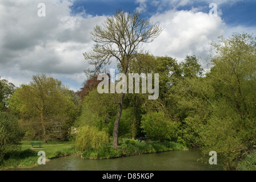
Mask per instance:
[[[44,151],[46,159],[58,158],[76,153],[75,142],[41,143],[41,148],[32,148],[30,141],[23,141],[21,151],[9,152],[5,155],[3,162],[0,164],[0,169],[37,166],[37,160],[39,158],[37,155],[38,151]]]

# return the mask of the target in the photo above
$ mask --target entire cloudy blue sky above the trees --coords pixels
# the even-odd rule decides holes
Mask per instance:
[[[255,0],[0,0],[1,79],[19,86],[45,73],[79,90],[90,67],[83,57],[93,49],[90,32],[117,9],[138,10],[163,28],[145,50],[178,61],[195,55],[205,69],[218,36],[256,33]]]

